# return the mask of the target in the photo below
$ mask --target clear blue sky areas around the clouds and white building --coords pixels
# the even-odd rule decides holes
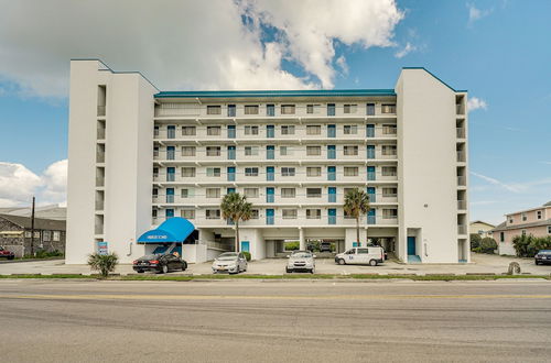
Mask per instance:
[[[233,2],[229,3],[231,6]],[[263,11],[271,12],[276,19],[291,16],[290,12],[285,12],[284,2],[281,8],[266,7]],[[551,1],[392,3],[381,0],[382,7],[397,9],[400,19],[395,16],[389,30],[388,24],[372,25],[376,22],[366,16],[365,26],[371,28],[358,29],[357,34],[342,31],[331,36],[334,55],[327,55],[326,67],[301,61],[304,54],[312,52],[309,44],[299,37],[301,32],[309,31],[307,28],[296,28],[298,35],[293,37],[292,29],[283,28],[277,20],[272,23],[264,20],[249,35],[259,33],[263,46],[270,43],[277,50],[281,46],[283,52],[288,52],[277,58],[273,69],[283,73],[283,76],[292,76],[291,80],[283,79],[283,80],[267,78],[270,81],[264,84],[291,87],[302,82],[320,87],[328,86],[326,79],[331,79],[329,87],[334,88],[391,88],[402,66],[424,66],[452,87],[467,89],[469,97],[477,98],[478,105],[484,106],[469,113],[471,219],[499,222],[506,212],[551,200]],[[260,14],[260,11],[252,12],[252,18],[258,16],[255,18],[257,23],[262,21]],[[240,22],[239,18],[237,21]],[[323,29],[324,24],[320,26]],[[363,31],[367,33],[372,26],[387,26],[387,37],[374,41],[361,35]],[[0,51],[6,44],[18,41],[18,35],[13,34],[4,34],[6,37],[13,36],[12,42],[2,40],[0,35]],[[350,41],[350,36],[355,37]],[[375,45],[366,48],[366,41]],[[236,40],[237,47],[240,42],[244,40]],[[284,45],[285,42],[289,44]],[[29,46],[32,48],[32,44]],[[55,72],[50,73],[58,76],[48,80],[60,90],[51,95],[44,85],[33,86],[32,80],[21,76],[24,68],[8,65],[7,72],[0,70],[0,124],[3,136],[0,162],[21,164],[44,179],[44,173],[52,163],[67,157],[68,102],[64,84],[67,81],[71,55],[100,57],[116,70],[142,70],[159,88],[166,90],[165,87],[173,85],[179,85],[181,89],[213,88],[217,85],[223,88],[257,87],[231,79],[217,84],[216,80],[207,80],[201,72],[197,72],[196,79],[187,81],[184,78],[188,77],[182,77],[180,82],[171,84],[163,80],[162,75],[155,75],[154,67],[148,69],[143,59],[151,55],[147,52],[129,52],[125,58],[115,51],[109,52],[107,46],[117,48],[99,42],[90,50],[83,44],[61,50],[57,59],[52,61]],[[218,45],[210,46],[216,48]],[[55,58],[51,55],[45,58]],[[266,54],[264,58],[268,58]],[[266,63],[270,70],[273,65],[268,61]],[[43,73],[47,72],[46,67]],[[287,84],[282,84],[284,81]],[[44,183],[41,187],[47,188]],[[0,200],[1,188],[0,175]],[[8,200],[9,193],[4,191],[3,198]]]

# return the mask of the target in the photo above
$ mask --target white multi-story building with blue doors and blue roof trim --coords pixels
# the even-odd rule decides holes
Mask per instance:
[[[137,238],[172,217],[195,226],[204,260],[233,245],[219,207],[233,191],[253,205],[239,241],[253,258],[285,240],[343,251],[357,242],[352,188],[370,198],[360,243],[468,262],[466,98],[424,68],[403,68],[391,89],[159,91],[73,61],[67,262],[100,241],[131,261],[154,248]]]

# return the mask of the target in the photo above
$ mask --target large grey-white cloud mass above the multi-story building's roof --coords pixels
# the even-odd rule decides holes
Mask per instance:
[[[0,78],[45,97],[67,95],[68,61],[78,57],[140,70],[163,90],[331,88],[334,42],[391,46],[403,18],[393,0],[0,0]],[[306,77],[282,69],[283,59]]]

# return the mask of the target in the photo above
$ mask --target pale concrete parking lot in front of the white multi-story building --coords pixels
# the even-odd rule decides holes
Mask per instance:
[[[383,264],[371,267],[364,265],[335,264],[333,258],[317,258],[316,274],[503,274],[507,272],[510,262],[516,261],[520,264],[522,273],[533,275],[551,274],[551,265],[536,266],[532,258],[516,258],[497,255],[473,254],[471,264],[400,264],[395,261],[387,261]],[[210,274],[210,262],[190,264],[187,271],[183,273],[171,274]],[[285,258],[267,258],[249,262],[246,273],[252,275],[281,275],[285,273]],[[132,266],[121,264],[117,266],[116,273],[121,275],[132,274]],[[87,265],[65,265],[63,260],[53,261],[33,261],[33,262],[0,262],[0,274],[90,274]],[[309,274],[304,274],[305,277]]]

